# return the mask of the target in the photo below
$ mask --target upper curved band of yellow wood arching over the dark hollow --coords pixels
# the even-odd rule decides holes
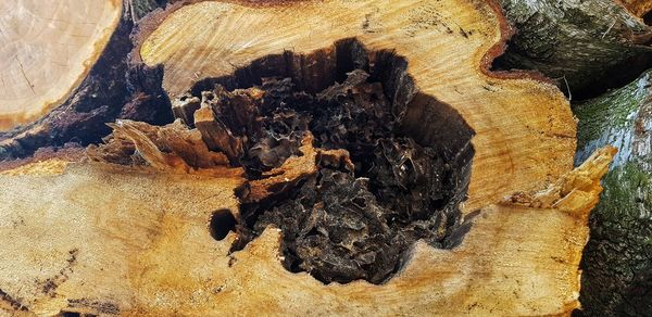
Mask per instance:
[[[141,34],[139,54],[146,65],[163,64],[163,87],[173,100],[202,78],[237,75],[248,65],[254,65],[259,78],[275,73],[266,68],[287,68],[298,81],[328,78],[337,63],[334,43],[347,38],[356,38],[368,52],[403,56],[406,65],[388,75],[397,83],[388,90],[390,101],[412,101],[415,106],[408,115],[426,122],[440,115],[427,109],[443,102],[476,132],[465,204],[473,211],[481,202],[552,181],[570,168],[575,148],[575,122],[553,86],[485,73],[501,48],[497,42],[505,24],[499,18],[487,4],[454,0],[261,7],[208,1],[172,11],[151,35]],[[317,50],[319,55],[309,55]],[[288,51],[287,60],[267,58]],[[409,77],[413,81],[403,79]],[[419,103],[426,111],[417,110]],[[423,132],[422,141],[430,142],[446,130]],[[493,177],[496,173],[501,177]]]

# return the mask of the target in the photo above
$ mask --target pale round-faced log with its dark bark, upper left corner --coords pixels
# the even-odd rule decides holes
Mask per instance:
[[[128,63],[137,17],[151,0],[1,4],[0,160],[86,145],[116,117],[172,122],[161,69]],[[159,79],[160,80],[160,79]]]

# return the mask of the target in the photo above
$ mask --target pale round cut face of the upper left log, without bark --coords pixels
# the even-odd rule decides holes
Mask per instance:
[[[0,4],[0,129],[34,122],[86,77],[117,27],[121,1]]]

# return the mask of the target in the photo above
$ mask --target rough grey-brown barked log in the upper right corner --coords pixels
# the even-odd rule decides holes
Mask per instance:
[[[516,34],[494,62],[499,68],[539,71],[581,98],[652,65],[652,29],[613,0],[502,0],[502,7]]]

